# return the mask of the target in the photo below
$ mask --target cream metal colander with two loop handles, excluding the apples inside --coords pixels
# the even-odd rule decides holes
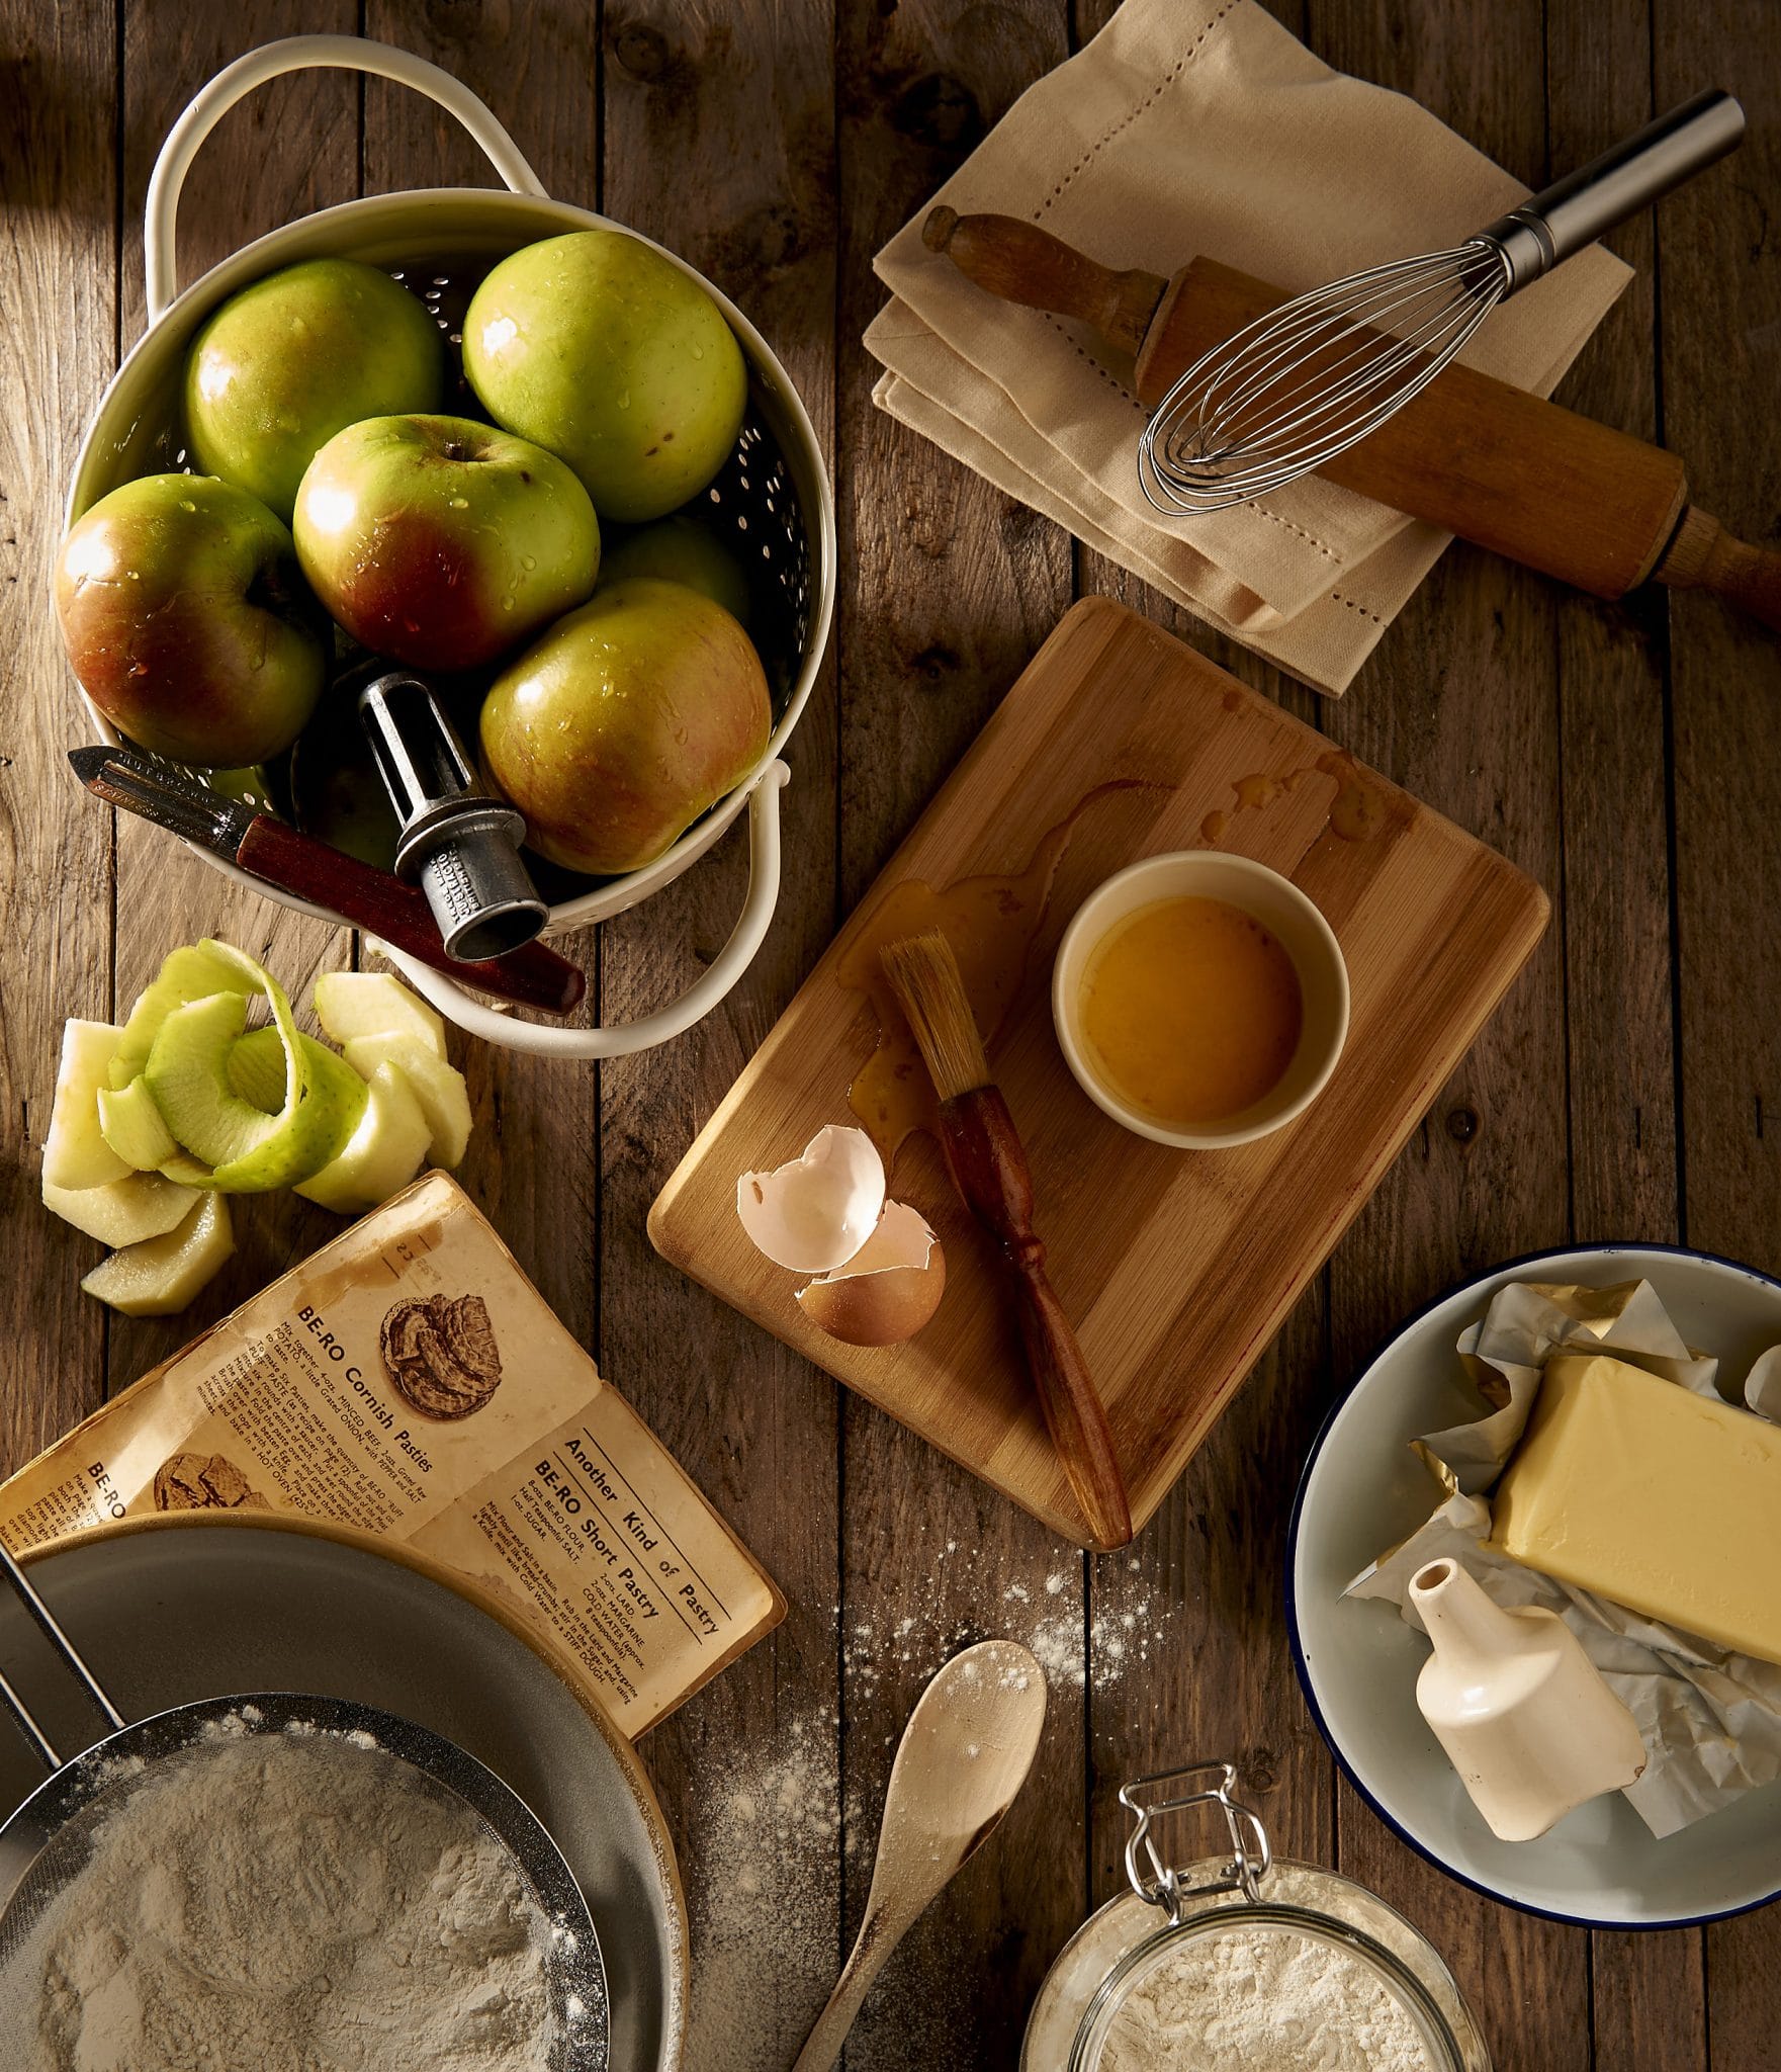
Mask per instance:
[[[454,114],[476,139],[499,189],[439,186],[406,195],[369,195],[273,230],[211,267],[184,292],[178,290],[174,220],[180,189],[199,147],[217,120],[246,93],[284,73],[338,66],[375,73],[414,87]],[[425,300],[441,323],[462,309],[468,292],[499,259],[538,238],[570,230],[621,230],[592,209],[553,201],[520,155],[514,139],[462,81],[389,44],[352,35],[294,35],[236,58],[195,95],[168,131],[149,178],[143,226],[149,327],[124,358],[87,431],[75,462],[66,522],[72,524],[99,497],[137,474],[182,464],[178,433],[180,371],[186,346],[209,313],[236,290],[302,259],[358,259],[383,267],[410,286],[425,284]],[[748,361],[748,410],[735,452],[698,499],[700,516],[714,526],[760,580],[750,586],[754,640],[772,690],[772,733],[756,767],[721,798],[652,864],[615,879],[572,879],[536,866],[549,901],[545,934],[609,920],[661,891],[696,864],[748,808],[750,883],[741,916],[712,963],[671,1005],[617,1028],[547,1028],[522,1021],[480,1001],[462,982],[431,970],[404,951],[385,949],[408,984],[447,1019],[474,1036],[512,1051],[545,1057],[621,1057],[679,1036],[710,1013],[735,986],[766,939],[779,903],[779,792],[791,779],[781,760],[797,725],[835,613],[835,503],[810,416],[766,340],[743,313],[702,274],[673,253],[640,238],[696,280],[723,311]],[[120,736],[85,698],[97,738],[116,748]],[[352,719],[346,719],[352,725]],[[238,885],[278,899],[317,920],[350,926],[327,908],[257,879],[199,847],[215,870]]]

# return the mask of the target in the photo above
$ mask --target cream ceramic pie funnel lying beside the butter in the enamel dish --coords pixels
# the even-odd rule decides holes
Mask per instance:
[[[1640,1776],[1632,1714],[1555,1612],[1503,1610],[1452,1558],[1410,1577],[1410,1602],[1435,1647],[1417,1703],[1491,1834],[1530,1842]]]

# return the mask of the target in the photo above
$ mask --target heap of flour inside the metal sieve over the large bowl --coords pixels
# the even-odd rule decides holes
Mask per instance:
[[[236,1722],[83,1817],[89,1863],[0,1977],[19,2072],[547,2064],[543,1908],[369,1736]]]

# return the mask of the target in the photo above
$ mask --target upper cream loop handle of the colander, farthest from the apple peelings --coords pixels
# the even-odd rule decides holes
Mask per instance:
[[[284,73],[309,70],[375,73],[379,79],[393,79],[398,85],[414,87],[429,102],[458,116],[466,131],[483,147],[483,155],[501,174],[516,195],[538,195],[545,184],[526,164],[520,147],[489,114],[483,102],[449,73],[427,58],[416,58],[410,50],[393,44],[373,44],[364,35],[288,35],[278,44],[263,44],[226,64],[215,79],[186,104],[186,112],[168,131],[168,139],[155,157],[149,176],[149,201],[143,215],[143,274],[149,290],[149,323],[166,313],[180,292],[178,255],[174,249],[176,220],[180,211],[180,189],[203,141],[228,114],[230,108],[267,79]]]

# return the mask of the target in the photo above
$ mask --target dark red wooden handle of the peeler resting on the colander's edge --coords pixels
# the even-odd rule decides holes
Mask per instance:
[[[545,943],[526,943],[522,949],[509,949],[505,957],[487,957],[480,963],[447,957],[422,891],[404,885],[391,870],[360,864],[344,850],[300,835],[271,814],[259,814],[249,827],[236,850],[236,862],[257,879],[331,908],[356,928],[369,928],[393,949],[406,949],[435,972],[445,972],[447,978],[478,992],[491,992],[497,1001],[538,1007],[547,1015],[567,1015],[588,990],[586,972]]]

